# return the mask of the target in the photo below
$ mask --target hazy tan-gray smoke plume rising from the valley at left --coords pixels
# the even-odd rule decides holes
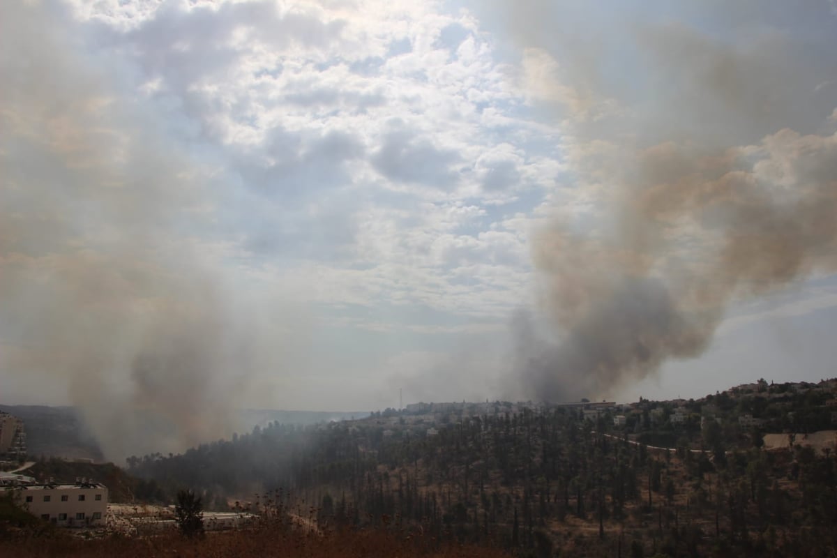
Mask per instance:
[[[0,18],[0,365],[112,459],[229,434],[265,340],[192,240],[209,173],[39,6]]]

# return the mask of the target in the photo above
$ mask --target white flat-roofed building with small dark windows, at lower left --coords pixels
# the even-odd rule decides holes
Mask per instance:
[[[104,484],[34,484],[9,487],[30,514],[64,527],[104,525],[107,487]]]

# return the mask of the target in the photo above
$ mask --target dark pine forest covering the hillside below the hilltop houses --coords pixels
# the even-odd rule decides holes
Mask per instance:
[[[319,525],[537,556],[837,548],[837,455],[794,434],[772,451],[757,427],[714,420],[637,436],[614,427],[610,411],[584,420],[574,408],[445,417],[432,433],[415,422],[389,410],[313,427],[271,423],[182,455],[129,458],[129,470],[146,479],[148,497],[189,487],[214,509],[310,509]],[[651,438],[675,447],[646,445]]]

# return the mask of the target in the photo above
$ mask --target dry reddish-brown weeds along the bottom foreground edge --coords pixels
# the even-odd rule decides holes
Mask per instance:
[[[0,541],[0,556],[46,558],[60,556],[122,558],[283,556],[306,558],[508,558],[500,550],[449,545],[434,549],[434,541],[384,531],[331,532],[312,535],[264,526],[255,530],[212,533],[201,540],[185,540],[175,534],[153,537],[109,537],[80,540],[69,535],[54,538],[22,537]]]

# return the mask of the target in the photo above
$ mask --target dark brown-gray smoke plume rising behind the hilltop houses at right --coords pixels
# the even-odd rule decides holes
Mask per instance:
[[[788,28],[833,31],[828,3],[676,4],[506,7],[596,206],[535,235],[548,325],[516,322],[521,395],[613,393],[700,356],[731,303],[837,267],[834,35]]]

